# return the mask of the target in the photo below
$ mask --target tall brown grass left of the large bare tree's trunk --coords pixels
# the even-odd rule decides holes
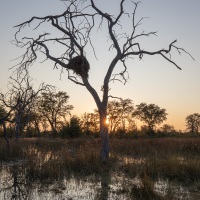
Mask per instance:
[[[100,141],[86,139],[21,139],[11,141],[8,155],[6,146],[1,143],[0,160],[23,160],[26,173],[33,179],[59,179],[65,175],[99,174],[108,163],[100,159]]]

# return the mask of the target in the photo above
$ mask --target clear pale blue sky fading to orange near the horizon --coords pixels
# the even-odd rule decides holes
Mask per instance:
[[[119,0],[95,0],[105,12],[116,13]],[[128,9],[133,6],[128,4]],[[146,17],[140,26],[146,32],[157,31],[157,36],[141,40],[143,49],[158,50],[168,48],[177,39],[177,46],[184,48],[187,54],[181,56],[173,52],[172,59],[182,68],[175,66],[159,56],[144,56],[128,60],[129,80],[126,85],[115,82],[111,84],[110,95],[133,100],[134,105],[142,102],[154,103],[165,108],[168,119],[164,123],[185,130],[185,117],[200,113],[200,1],[199,0],[141,0],[136,17]],[[32,16],[60,14],[65,4],[59,0],[9,0],[0,1],[0,90],[7,91],[10,68],[17,64],[15,58],[23,51],[16,48],[14,39],[15,25],[29,20]],[[129,24],[123,22],[127,30]],[[32,29],[30,29],[32,31]],[[102,29],[102,32],[104,30]],[[101,85],[112,59],[113,53],[106,48],[107,39],[100,33],[95,40],[97,59],[88,58],[91,66],[89,81],[101,96]],[[57,50],[59,51],[59,50]],[[52,62],[36,63],[30,68],[30,75],[37,88],[42,82],[55,85],[58,90],[69,94],[69,103],[74,106],[72,114],[82,115],[93,112],[95,102],[89,92],[82,86],[67,80],[66,73],[60,77],[60,70],[53,69]],[[116,69],[120,70],[120,66]],[[110,99],[112,100],[112,99]],[[138,122],[139,123],[139,122]]]

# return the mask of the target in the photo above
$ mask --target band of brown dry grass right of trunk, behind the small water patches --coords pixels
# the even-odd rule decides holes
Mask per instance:
[[[200,138],[113,139],[111,151],[131,156],[200,155]]]

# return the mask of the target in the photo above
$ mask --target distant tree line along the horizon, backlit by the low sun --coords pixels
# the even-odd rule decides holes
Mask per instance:
[[[0,93],[0,133],[7,143],[8,137],[99,137],[98,110],[80,117],[72,116],[73,105],[69,104],[66,92],[45,84],[35,91],[31,82],[28,73],[11,77],[8,92]],[[154,137],[181,133],[169,124],[157,128],[167,119],[167,112],[155,104],[143,102],[134,106],[131,99],[117,98],[108,102],[107,109],[107,126],[111,137]],[[144,123],[140,129],[136,120]],[[200,131],[200,114],[188,115],[185,121],[186,131],[197,135]]]

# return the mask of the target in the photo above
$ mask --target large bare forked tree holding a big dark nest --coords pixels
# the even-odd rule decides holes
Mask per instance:
[[[144,50],[141,47],[138,39],[156,35],[156,32],[141,31],[138,33],[138,27],[144,19],[141,18],[139,21],[136,21],[136,10],[139,2],[134,3],[131,0],[121,0],[119,12],[116,15],[108,14],[98,8],[95,0],[66,0],[65,3],[66,9],[61,14],[44,17],[34,16],[30,20],[15,26],[17,28],[15,34],[16,45],[25,49],[22,60],[18,65],[18,70],[28,68],[37,60],[39,55],[45,55],[46,59],[55,63],[56,68],[61,66],[62,70],[67,70],[70,81],[85,87],[90,92],[96,102],[100,115],[101,156],[103,160],[106,160],[109,157],[106,116],[110,81],[119,80],[124,81],[124,83],[127,82],[126,60],[128,58],[139,57],[142,59],[144,55],[160,55],[169,63],[181,69],[171,59],[171,51],[174,49],[179,54],[187,52],[175,45],[176,40],[172,41],[167,48],[155,51]],[[126,3],[133,4],[131,5],[133,7],[131,12],[126,11]],[[123,19],[126,20],[126,25],[130,23],[129,27],[132,27],[130,32],[121,23]],[[34,25],[34,31],[36,31],[34,36],[21,36],[22,31],[32,27],[32,25]],[[47,28],[48,26],[50,27],[49,29]],[[108,37],[104,39],[107,40],[109,38],[109,43],[111,44],[107,50],[113,51],[114,56],[107,66],[101,98],[89,82],[90,64],[87,60],[87,50],[88,48],[93,49],[96,56],[96,47],[93,41],[94,39],[96,40],[96,37],[92,37],[92,34],[96,35],[97,30],[101,31],[102,27],[106,27],[108,34]],[[29,31],[30,35],[34,31]],[[24,32],[24,34],[27,34],[27,32]],[[64,49],[63,53],[57,55],[55,49],[58,48]],[[120,62],[124,67],[123,70],[118,74],[113,74],[113,70]]]

